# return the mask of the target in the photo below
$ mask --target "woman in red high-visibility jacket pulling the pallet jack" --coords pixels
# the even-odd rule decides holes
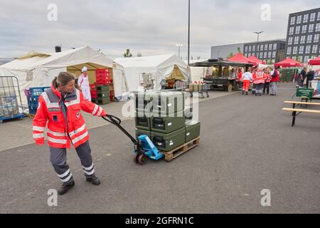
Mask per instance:
[[[95,176],[89,134],[81,110],[100,117],[107,115],[100,106],[83,98],[80,90],[75,88],[75,77],[70,73],[59,73],[51,88],[38,99],[38,110],[33,119],[33,139],[38,145],[44,144],[44,131],[48,123],[50,162],[63,182],[58,190],[59,195],[65,194],[75,185],[67,164],[66,149],[71,144],[80,157],[87,182],[100,185],[100,180]]]

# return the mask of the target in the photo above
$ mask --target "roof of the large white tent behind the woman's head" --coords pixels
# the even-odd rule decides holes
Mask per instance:
[[[38,53],[18,58],[0,66],[0,76],[16,76],[18,78],[21,98],[26,104],[23,89],[50,86],[53,78],[62,71],[68,71],[78,76],[82,66],[87,66],[88,71],[93,72],[96,68],[112,68],[113,63],[102,53],[85,46],[58,53]],[[120,72],[116,71],[116,74]]]

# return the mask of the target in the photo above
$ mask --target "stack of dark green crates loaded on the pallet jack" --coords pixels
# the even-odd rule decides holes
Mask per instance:
[[[148,135],[160,151],[169,152],[200,135],[200,123],[186,122],[184,93],[138,93],[135,103],[137,138]]]

